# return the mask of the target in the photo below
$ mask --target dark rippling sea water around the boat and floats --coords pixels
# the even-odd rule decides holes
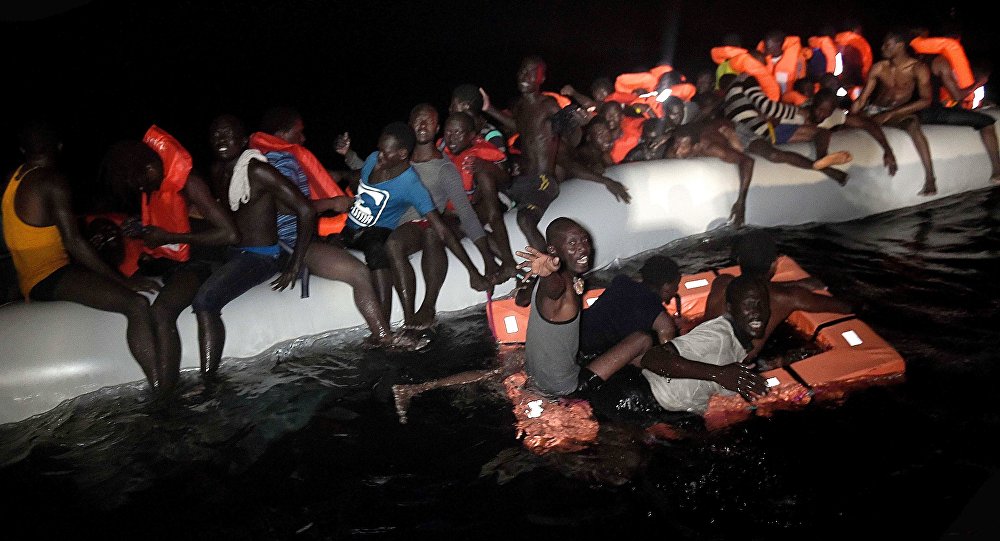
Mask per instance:
[[[1000,189],[771,231],[904,380],[679,441],[608,423],[545,458],[489,382],[420,395],[400,424],[392,384],[495,365],[479,306],[424,354],[334,333],[227,359],[211,385],[187,372],[168,406],[125,385],[0,426],[3,538],[998,538],[973,511],[1000,496]],[[685,273],[730,265],[732,234],[662,252]]]

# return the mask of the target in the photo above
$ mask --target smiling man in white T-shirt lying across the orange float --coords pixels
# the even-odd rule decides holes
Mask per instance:
[[[726,288],[725,313],[642,356],[639,366],[656,402],[667,411],[703,415],[715,394],[739,393],[748,402],[767,394],[764,378],[744,361],[769,318],[764,280],[737,277]]]

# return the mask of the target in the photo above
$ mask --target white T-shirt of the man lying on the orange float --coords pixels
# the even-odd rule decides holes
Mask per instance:
[[[733,326],[725,316],[710,319],[670,343],[681,357],[716,366],[738,363],[747,356],[747,350],[736,338]],[[714,381],[667,378],[646,369],[643,369],[642,375],[649,381],[653,397],[668,411],[704,414],[708,409],[708,399],[713,394],[735,394]]]

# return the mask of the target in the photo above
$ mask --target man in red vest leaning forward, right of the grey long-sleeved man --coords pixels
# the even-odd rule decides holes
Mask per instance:
[[[517,262],[510,249],[510,237],[504,221],[504,209],[501,208],[497,195],[498,187],[509,184],[510,178],[506,168],[500,163],[481,157],[490,150],[482,146],[484,142],[481,136],[476,135],[472,117],[461,112],[448,115],[444,123],[444,153],[459,168],[463,184],[471,187],[469,200],[480,223],[490,227],[490,231],[487,231],[490,246],[500,259],[496,277],[496,284],[499,285],[513,278],[517,272]],[[494,154],[493,157],[499,155]]]

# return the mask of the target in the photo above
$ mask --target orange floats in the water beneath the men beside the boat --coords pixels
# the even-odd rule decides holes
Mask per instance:
[[[712,282],[721,274],[738,276],[739,267],[711,269],[681,277],[680,314],[693,324],[705,314]],[[787,256],[778,258],[775,282],[808,278],[809,274]],[[586,310],[603,289],[584,293]],[[665,305],[677,313],[676,300]],[[578,451],[597,439],[599,422],[591,405],[580,399],[551,399],[527,385],[523,369],[523,344],[528,324],[528,307],[514,304],[513,298],[487,304],[487,315],[497,341],[507,346],[501,351],[504,389],[517,418],[516,433],[526,448],[536,454]],[[899,353],[871,327],[853,314],[792,312],[785,320],[803,341],[808,354],[782,366],[766,370],[768,394],[753,403],[738,395],[715,395],[704,414],[705,428],[716,430],[754,415],[770,416],[778,410],[792,410],[815,402],[831,402],[850,391],[885,385],[903,377],[906,365]],[[689,325],[682,325],[688,327]],[[514,347],[510,347],[510,346]],[[761,356],[763,358],[763,355]],[[792,357],[796,359],[796,357]],[[672,438],[669,425],[650,422],[647,430],[657,437]]]

